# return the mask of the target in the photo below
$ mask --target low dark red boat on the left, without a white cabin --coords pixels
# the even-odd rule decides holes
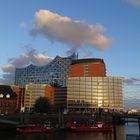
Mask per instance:
[[[23,126],[23,127],[18,127],[16,129],[17,133],[49,133],[53,131],[54,128],[52,127],[37,126],[37,125]]]

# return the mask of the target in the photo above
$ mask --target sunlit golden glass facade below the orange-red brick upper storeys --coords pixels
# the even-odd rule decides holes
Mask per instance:
[[[68,109],[123,109],[121,77],[71,77],[67,85]]]

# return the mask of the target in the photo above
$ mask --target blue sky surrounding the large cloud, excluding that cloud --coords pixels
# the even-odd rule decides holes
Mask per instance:
[[[40,30],[35,36],[30,34],[37,20],[35,13],[40,10],[68,17],[73,22],[84,22],[87,26],[101,25],[104,31],[99,32],[111,40],[109,47],[101,51],[94,44],[84,44],[78,47],[79,57],[103,58],[108,76],[127,77],[125,97],[140,99],[140,0],[1,0],[1,84],[14,73],[14,68],[7,64],[20,67],[23,59],[21,66],[37,64],[42,59],[45,63],[56,55],[66,56],[71,50],[71,43],[62,38],[50,41]],[[25,55],[30,57],[25,59]]]

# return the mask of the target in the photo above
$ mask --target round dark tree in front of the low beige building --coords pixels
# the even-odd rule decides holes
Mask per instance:
[[[40,97],[35,101],[34,111],[38,113],[48,113],[50,110],[50,102],[47,97]]]

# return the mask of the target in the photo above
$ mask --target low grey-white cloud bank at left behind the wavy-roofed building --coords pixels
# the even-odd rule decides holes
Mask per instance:
[[[52,61],[51,57],[38,53],[35,49],[28,47],[25,53],[17,58],[10,58],[8,63],[2,67],[4,74],[0,78],[0,84],[14,83],[15,68],[23,68],[30,64],[43,66],[50,61]]]

